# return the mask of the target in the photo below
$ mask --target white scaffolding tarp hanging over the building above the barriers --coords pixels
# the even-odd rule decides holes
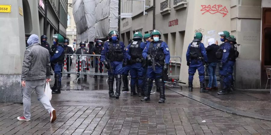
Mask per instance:
[[[118,29],[118,0],[73,0],[73,17],[77,29],[77,44],[106,38],[110,30]]]

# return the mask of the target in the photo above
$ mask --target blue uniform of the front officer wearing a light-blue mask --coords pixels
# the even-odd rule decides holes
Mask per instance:
[[[145,90],[145,97],[141,99],[141,101],[148,101],[150,98],[151,88],[152,88],[152,82],[154,79],[158,80],[159,83],[159,90],[160,90],[160,101],[164,103],[165,99],[165,83],[162,79],[162,72],[163,72],[163,66],[164,64],[170,63],[170,52],[167,46],[167,43],[163,41],[157,41],[157,42],[149,42],[147,43],[145,49],[142,52],[143,58],[147,58],[148,55],[154,56],[155,64],[155,71],[153,70],[152,66],[148,63],[148,69],[147,69],[147,81],[146,81],[146,90]],[[161,66],[159,66],[158,64]]]

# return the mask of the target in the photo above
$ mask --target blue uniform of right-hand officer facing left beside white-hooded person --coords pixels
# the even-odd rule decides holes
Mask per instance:
[[[230,87],[230,83],[232,82],[232,73],[233,73],[233,66],[235,61],[229,60],[231,44],[229,41],[226,41],[221,46],[221,50],[223,51],[223,56],[220,63],[223,64],[222,68],[220,68],[220,76],[222,80],[222,89],[226,90],[226,88]]]

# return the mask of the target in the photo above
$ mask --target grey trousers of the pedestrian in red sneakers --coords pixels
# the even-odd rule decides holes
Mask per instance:
[[[45,79],[25,81],[25,87],[23,87],[23,116],[25,119],[30,119],[30,106],[31,106],[31,94],[35,90],[38,96],[38,100],[42,103],[48,113],[54,109],[51,106],[49,99],[44,95]]]

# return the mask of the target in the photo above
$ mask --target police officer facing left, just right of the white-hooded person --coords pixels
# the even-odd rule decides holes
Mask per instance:
[[[229,80],[229,73],[231,72],[231,65],[234,65],[234,62],[229,56],[231,50],[231,44],[229,39],[230,34],[228,31],[223,31],[218,33],[221,38],[220,41],[224,42],[220,45],[219,51],[222,53],[222,58],[219,62],[219,73],[220,73],[220,80],[221,80],[221,91],[219,91],[218,95],[227,94],[227,92],[231,89],[230,88],[230,80]]]

